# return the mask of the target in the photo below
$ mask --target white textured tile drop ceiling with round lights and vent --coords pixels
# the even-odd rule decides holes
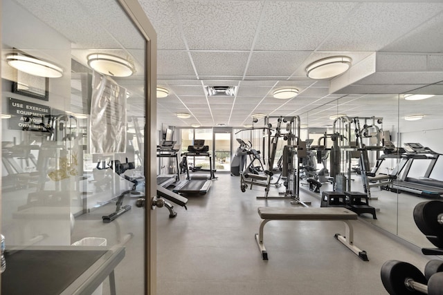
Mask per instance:
[[[35,11],[44,7],[35,2],[52,2],[53,11],[69,9],[83,21],[85,13],[110,9],[104,1],[63,1],[64,6],[46,0],[19,2],[58,26],[61,20]],[[243,126],[251,124],[254,113],[299,115],[316,127],[331,124],[328,118],[336,113],[383,117],[387,124],[397,124],[403,113],[441,113],[441,0],[138,2],[157,33],[157,84],[170,92],[157,102],[159,126]],[[74,5],[78,7],[71,9]],[[100,23],[104,34],[131,44],[128,23],[123,22],[121,32],[108,32],[106,20]],[[87,53],[85,48],[98,48],[100,40],[94,44],[82,39],[71,26],[64,35],[78,40],[73,46],[79,56]],[[105,45],[115,50],[115,44],[100,44]],[[143,53],[134,48],[126,50],[135,57]],[[307,78],[308,64],[332,55],[351,57],[352,68],[333,79]],[[429,84],[435,85],[425,87]],[[237,93],[210,97],[206,86],[236,86]],[[272,97],[273,91],[288,86],[298,88],[299,95]],[[429,91],[437,96],[397,107],[398,94]],[[179,119],[176,113],[191,117]]]

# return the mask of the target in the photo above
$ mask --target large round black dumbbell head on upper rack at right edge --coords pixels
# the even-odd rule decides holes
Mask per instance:
[[[421,202],[415,206],[413,216],[426,238],[436,247],[443,248],[443,202]]]

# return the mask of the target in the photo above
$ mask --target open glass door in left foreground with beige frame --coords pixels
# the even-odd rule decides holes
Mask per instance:
[[[155,33],[134,3],[1,1],[1,294],[155,294],[137,206],[155,194]]]

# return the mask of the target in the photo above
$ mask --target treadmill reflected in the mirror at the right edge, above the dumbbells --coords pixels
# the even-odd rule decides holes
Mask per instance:
[[[392,191],[407,191],[421,196],[443,195],[443,157],[440,153],[419,143],[404,144],[406,153],[395,173],[399,178],[392,182]]]

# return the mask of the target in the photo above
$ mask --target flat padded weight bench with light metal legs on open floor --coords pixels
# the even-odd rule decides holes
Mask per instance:
[[[366,251],[354,246],[354,230],[349,220],[356,220],[357,214],[340,207],[326,208],[294,208],[294,207],[258,207],[258,215],[262,218],[260,231],[255,234],[258,248],[263,260],[268,260],[268,254],[263,244],[264,225],[271,220],[340,220],[345,222],[345,236],[335,234],[335,238],[351,249],[362,260],[368,261]]]

